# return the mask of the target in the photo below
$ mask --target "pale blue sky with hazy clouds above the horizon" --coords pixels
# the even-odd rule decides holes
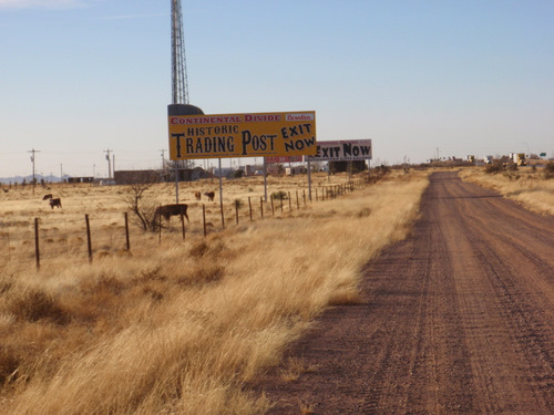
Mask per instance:
[[[183,0],[191,103],[316,111],[389,164],[554,156],[552,0]],[[0,177],[158,167],[171,1],[0,0]],[[242,164],[247,164],[243,159]]]

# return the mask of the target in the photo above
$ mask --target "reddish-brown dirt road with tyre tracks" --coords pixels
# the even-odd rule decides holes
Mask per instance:
[[[270,414],[554,414],[553,217],[435,173],[362,284],[290,352],[315,370],[261,381]]]

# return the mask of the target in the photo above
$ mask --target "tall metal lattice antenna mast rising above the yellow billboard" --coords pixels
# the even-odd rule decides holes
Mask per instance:
[[[173,104],[188,104],[186,79],[185,37],[181,0],[172,0],[172,87]]]

